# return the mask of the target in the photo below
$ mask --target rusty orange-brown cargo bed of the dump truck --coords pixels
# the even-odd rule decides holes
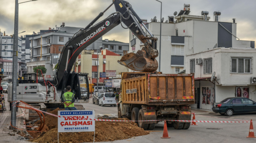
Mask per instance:
[[[122,73],[124,104],[194,104],[194,74]]]

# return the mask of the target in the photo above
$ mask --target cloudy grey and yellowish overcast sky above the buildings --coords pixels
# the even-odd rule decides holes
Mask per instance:
[[[19,0],[25,2],[29,0]],[[154,16],[160,20],[160,3],[155,0],[127,0],[142,19]],[[60,26],[84,28],[100,12],[110,5],[112,0],[38,0],[19,4],[19,32],[21,35],[31,35]],[[201,15],[202,10],[209,11],[211,21],[213,12],[221,12],[222,22],[232,22],[236,18],[237,37],[240,40],[256,41],[256,1],[255,0],[162,0],[162,17],[168,16],[183,9],[183,4],[190,4],[190,15]],[[15,0],[0,0],[0,29],[6,35],[14,33]],[[98,20],[101,21],[115,12],[114,6]],[[120,25],[103,36],[103,39],[129,42],[129,30]]]

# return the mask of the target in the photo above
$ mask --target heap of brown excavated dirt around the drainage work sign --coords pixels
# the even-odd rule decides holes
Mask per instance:
[[[51,111],[52,114],[57,114],[59,109]],[[40,134],[30,133],[34,139],[31,142],[38,143],[56,143],[58,142],[58,118],[45,115],[45,128],[44,132]],[[116,118],[113,120],[128,120],[127,118]],[[40,124],[40,122],[38,122]],[[148,131],[144,131],[139,128],[134,122],[108,122],[108,121],[96,121],[95,122],[95,141],[114,141],[128,139],[134,136],[142,136],[149,134]],[[79,142],[93,142],[94,132],[70,132],[59,133],[60,143],[79,143]]]

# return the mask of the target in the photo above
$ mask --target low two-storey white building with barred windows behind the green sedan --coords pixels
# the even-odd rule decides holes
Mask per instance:
[[[211,110],[213,102],[236,96],[256,101],[253,63],[256,63],[253,48],[222,47],[186,55],[186,74],[195,73],[196,104],[191,107]],[[214,72],[215,80],[211,82]]]

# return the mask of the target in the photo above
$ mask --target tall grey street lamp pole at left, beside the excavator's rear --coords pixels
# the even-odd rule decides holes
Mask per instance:
[[[36,0],[31,0],[36,1]],[[29,2],[29,1],[26,1]],[[22,2],[25,3],[25,2]],[[17,82],[18,82],[18,25],[19,25],[19,1],[15,0],[15,18],[14,18],[14,48],[12,54],[12,99],[11,101],[16,101],[17,97]],[[23,33],[23,32],[22,32]],[[16,126],[16,107],[11,106],[11,125]],[[13,129],[12,127],[10,127]]]

